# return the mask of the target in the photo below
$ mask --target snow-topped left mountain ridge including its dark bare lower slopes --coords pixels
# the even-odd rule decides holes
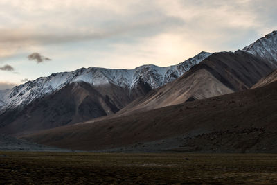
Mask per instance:
[[[82,68],[0,91],[1,132],[15,134],[20,130],[26,134],[114,114],[132,100],[175,80],[209,55],[201,52],[170,67]]]

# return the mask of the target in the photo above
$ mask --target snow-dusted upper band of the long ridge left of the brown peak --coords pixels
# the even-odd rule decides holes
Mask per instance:
[[[111,83],[132,90],[142,80],[148,83],[152,89],[155,89],[175,80],[209,55],[211,53],[202,52],[194,58],[170,67],[158,67],[152,64],[136,67],[135,69],[89,67],[71,72],[53,73],[51,76],[37,78],[12,89],[0,91],[0,113],[4,109],[31,103],[36,98],[51,94],[71,82],[83,81],[94,86]]]

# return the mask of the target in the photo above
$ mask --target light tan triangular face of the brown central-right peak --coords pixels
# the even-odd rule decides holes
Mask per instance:
[[[220,94],[232,93],[206,69],[199,69],[186,78],[177,79],[161,89],[154,89],[147,96],[138,98],[118,112],[126,114],[137,109],[156,109],[169,105],[177,105],[188,100],[203,99]]]

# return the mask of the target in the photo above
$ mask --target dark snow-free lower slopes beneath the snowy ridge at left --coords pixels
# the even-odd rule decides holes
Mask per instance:
[[[145,94],[144,90],[141,87],[138,93]],[[96,87],[85,82],[73,82],[23,109],[2,114],[0,133],[19,135],[87,121],[114,114],[131,101],[129,91],[116,85]]]

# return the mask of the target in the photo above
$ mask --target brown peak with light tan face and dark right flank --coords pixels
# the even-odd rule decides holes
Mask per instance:
[[[118,112],[156,109],[249,89],[273,70],[269,62],[244,51],[213,53],[183,76]]]

